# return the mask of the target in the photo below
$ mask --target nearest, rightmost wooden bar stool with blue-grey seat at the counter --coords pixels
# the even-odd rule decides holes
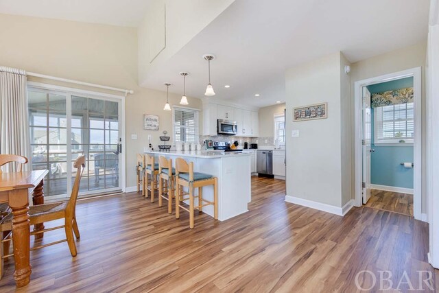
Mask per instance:
[[[202,187],[213,185],[213,202],[202,197]],[[176,159],[176,219],[180,218],[180,208],[189,211],[189,228],[193,228],[193,210],[197,208],[202,211],[202,207],[213,205],[213,218],[218,220],[218,178],[210,174],[193,172],[193,162],[189,164],[181,159]],[[189,192],[183,192],[182,187],[189,187]],[[198,188],[198,196],[194,196],[195,188]],[[189,195],[189,198],[184,198]],[[195,198],[198,198],[198,206],[195,207]],[[183,207],[180,202],[189,200],[189,209]],[[206,202],[206,203],[204,203]]]

